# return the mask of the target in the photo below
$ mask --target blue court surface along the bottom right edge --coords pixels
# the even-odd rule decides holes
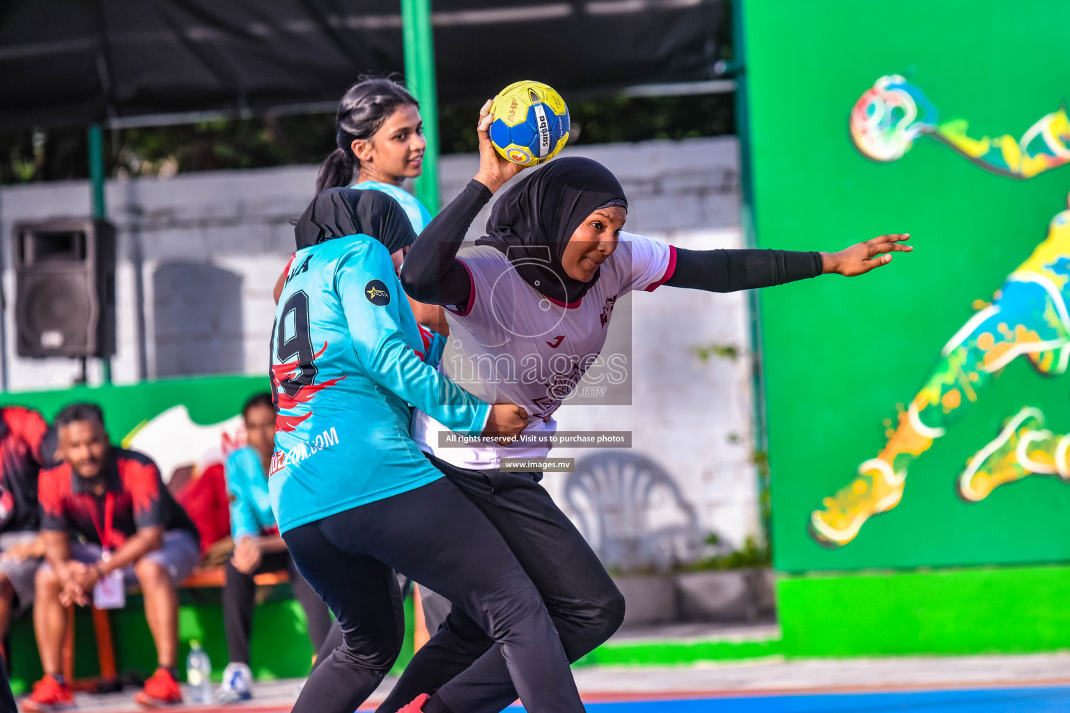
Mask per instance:
[[[586,709],[591,713],[1055,713],[1070,711],[1070,686],[588,702]]]

